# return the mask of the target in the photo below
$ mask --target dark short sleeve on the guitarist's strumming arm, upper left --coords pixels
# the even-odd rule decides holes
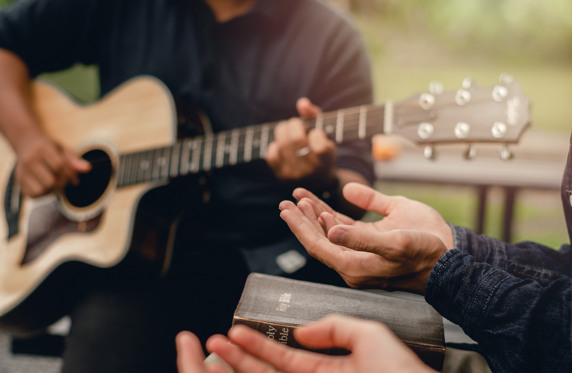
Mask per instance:
[[[97,0],[22,0],[0,11],[0,48],[17,54],[30,76],[77,62],[97,63],[102,26]]]

